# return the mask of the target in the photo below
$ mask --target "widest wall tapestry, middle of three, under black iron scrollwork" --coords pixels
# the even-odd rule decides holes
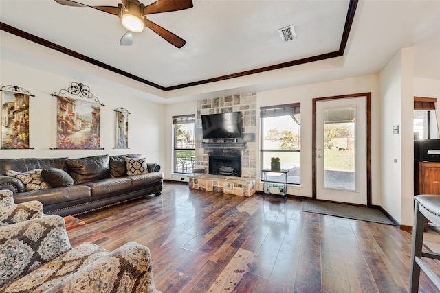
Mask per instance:
[[[96,102],[65,97],[65,91],[78,97],[94,99]],[[58,149],[101,148],[101,106],[97,97],[91,95],[89,87],[72,82],[67,90],[53,94],[57,97],[56,144]]]

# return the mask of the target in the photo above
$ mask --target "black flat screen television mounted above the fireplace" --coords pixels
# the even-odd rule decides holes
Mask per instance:
[[[201,116],[203,139],[240,139],[241,112]]]

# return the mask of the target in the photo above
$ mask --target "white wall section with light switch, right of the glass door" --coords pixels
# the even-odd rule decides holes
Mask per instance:
[[[414,196],[414,48],[404,48],[380,73],[382,207],[412,226]],[[399,126],[399,134],[393,134]]]

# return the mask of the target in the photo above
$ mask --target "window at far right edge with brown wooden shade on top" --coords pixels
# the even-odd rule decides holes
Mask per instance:
[[[430,97],[414,97],[414,139],[432,139],[439,135],[437,125],[437,112],[435,103],[437,99]],[[437,133],[437,134],[436,134]]]

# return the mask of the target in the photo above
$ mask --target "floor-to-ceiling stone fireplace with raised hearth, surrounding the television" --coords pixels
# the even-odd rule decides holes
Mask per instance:
[[[203,139],[201,115],[241,112],[240,139]],[[195,120],[195,167],[203,175],[189,177],[189,187],[252,196],[256,191],[256,93],[215,97],[197,101]]]

